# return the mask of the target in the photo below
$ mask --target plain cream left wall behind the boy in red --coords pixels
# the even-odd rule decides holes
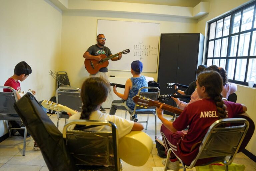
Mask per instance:
[[[32,73],[21,89],[35,90],[38,100],[53,96],[55,80],[48,71],[58,71],[61,63],[61,22],[62,12],[48,0],[0,1],[0,85],[25,61]],[[0,121],[0,137],[6,132]]]

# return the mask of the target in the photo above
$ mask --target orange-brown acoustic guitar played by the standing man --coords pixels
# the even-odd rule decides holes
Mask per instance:
[[[120,53],[128,54],[129,52],[130,52],[130,49],[126,49]],[[104,54],[101,54],[100,56],[101,56],[101,61],[96,61],[94,59],[85,59],[84,60],[84,66],[85,66],[85,69],[88,71],[88,73],[90,73],[92,75],[97,74],[101,68],[107,67],[108,60],[117,57],[118,53],[115,55],[108,56],[108,57]]]

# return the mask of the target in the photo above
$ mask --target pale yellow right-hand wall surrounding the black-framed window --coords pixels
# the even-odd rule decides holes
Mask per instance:
[[[222,16],[224,13],[228,13],[238,7],[248,4],[251,1],[248,0],[211,0],[210,1],[210,12],[209,14],[198,19],[197,23],[197,32],[206,35],[207,31],[207,22],[213,20],[218,16]],[[206,36],[205,36],[206,38]],[[206,48],[206,47],[205,47]],[[205,57],[205,55],[204,55]],[[245,104],[248,108],[247,113],[254,120],[256,124],[256,89],[248,88],[248,86],[238,85],[237,91],[237,102]],[[256,155],[255,146],[256,140],[256,130],[254,131],[253,137],[250,140],[249,144],[246,146],[246,149],[252,154]]]

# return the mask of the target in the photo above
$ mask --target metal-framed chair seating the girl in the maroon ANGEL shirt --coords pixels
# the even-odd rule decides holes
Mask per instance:
[[[237,126],[233,126],[234,124]],[[227,171],[228,165],[233,162],[248,128],[249,122],[244,118],[219,119],[209,127],[199,147],[198,154],[190,165],[183,163],[182,159],[174,154],[181,162],[183,171],[186,171],[186,168],[191,169],[194,166],[215,162],[222,162],[225,165],[225,171]],[[164,171],[167,170],[170,153],[171,148],[167,152]]]

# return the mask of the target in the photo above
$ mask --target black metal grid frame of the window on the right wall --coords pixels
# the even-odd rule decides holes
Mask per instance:
[[[243,12],[244,10],[246,10],[247,8],[250,8],[251,6],[254,6],[254,11],[253,11],[253,18],[252,18],[252,27],[251,29],[248,29],[248,30],[244,30],[244,31],[241,31],[241,26],[242,26],[242,19],[243,19]],[[234,20],[234,16],[235,14],[241,12],[241,17],[240,17],[240,24],[239,24],[239,31],[237,33],[232,33],[232,29],[233,29],[233,20]],[[248,67],[249,67],[249,60],[250,59],[255,59],[256,60],[256,55],[255,56],[250,56],[250,52],[251,52],[251,43],[252,43],[252,37],[253,37],[253,32],[256,31],[256,28],[253,28],[254,27],[254,22],[255,22],[255,15],[256,15],[256,1],[252,2],[252,3],[249,3],[247,5],[244,5],[243,7],[240,7],[239,9],[236,9],[230,13],[227,13],[223,16],[220,16],[212,21],[210,21],[208,23],[208,31],[207,31],[207,41],[206,41],[206,51],[205,51],[205,65],[207,65],[207,61],[208,60],[212,60],[211,61],[211,65],[214,65],[214,60],[219,60],[218,61],[218,66],[220,66],[221,64],[221,59],[222,60],[226,60],[225,61],[225,69],[227,69],[228,67],[228,60],[229,59],[235,59],[235,66],[234,66],[234,74],[233,74],[233,79],[232,78],[229,78],[229,82],[232,82],[232,83],[235,83],[235,84],[240,84],[240,85],[247,85],[248,86],[248,81],[246,82],[247,80],[247,74],[248,74]],[[224,32],[224,22],[225,22],[225,18],[226,17],[229,17],[230,16],[230,23],[229,23],[229,33],[228,35],[226,36],[223,36],[223,32]],[[219,20],[223,20],[222,21],[222,33],[221,33],[221,36],[216,38],[216,29],[217,29],[217,22]],[[211,24],[215,23],[215,30],[214,30],[214,38],[213,39],[210,39],[210,32],[211,32]],[[249,42],[249,47],[248,47],[248,53],[247,53],[247,56],[238,56],[238,52],[239,52],[239,43],[240,43],[240,37],[242,34],[245,34],[245,33],[250,33],[250,42]],[[256,32],[255,32],[256,34]],[[238,35],[238,41],[237,41],[237,47],[236,47],[236,56],[235,57],[229,57],[230,55],[230,49],[231,49],[231,37],[233,36],[236,36]],[[244,35],[245,36],[245,35]],[[225,57],[221,57],[222,55],[222,43],[223,43],[223,39],[224,38],[228,38],[228,43],[227,43],[227,52],[226,52],[226,56]],[[221,40],[220,41],[220,50],[219,50],[219,57],[214,57],[214,51],[215,51],[215,44],[216,44],[216,40]],[[212,52],[212,57],[208,57],[208,51],[209,51],[209,42],[211,41],[214,41],[213,43],[213,49]],[[236,66],[237,66],[237,61],[239,59],[246,59],[246,70],[245,70],[245,75],[244,75],[244,81],[238,81],[238,80],[235,80],[235,77],[236,77]],[[256,67],[256,66],[255,66]],[[256,84],[254,84],[254,87],[255,87]]]

